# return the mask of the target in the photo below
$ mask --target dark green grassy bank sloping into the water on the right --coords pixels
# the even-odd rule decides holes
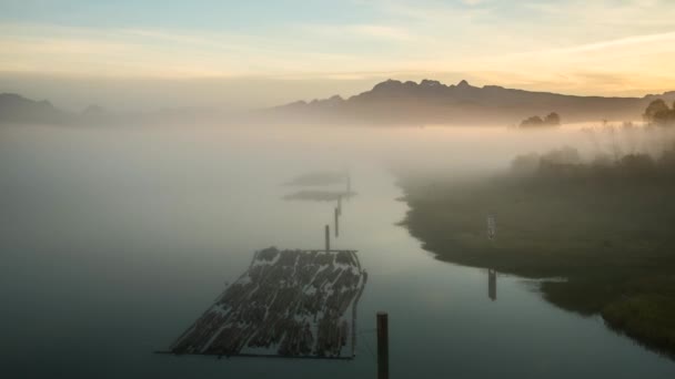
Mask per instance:
[[[402,176],[404,222],[439,259],[545,281],[551,303],[675,354],[675,180],[669,166],[537,163],[459,183]],[[496,219],[488,240],[486,216]]]

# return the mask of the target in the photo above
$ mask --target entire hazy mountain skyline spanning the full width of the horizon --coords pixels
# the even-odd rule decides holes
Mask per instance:
[[[550,92],[473,86],[466,81],[446,85],[439,81],[386,80],[349,99],[334,95],[246,113],[213,109],[163,110],[155,113],[113,114],[92,105],[81,113],[54,107],[18,94],[0,94],[0,123],[90,124],[149,120],[223,123],[359,123],[359,124],[518,124],[533,115],[556,112],[565,122],[639,120],[655,99],[675,101],[675,91],[643,98],[576,96]]]

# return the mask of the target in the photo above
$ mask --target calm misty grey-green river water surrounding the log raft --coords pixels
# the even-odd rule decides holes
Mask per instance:
[[[415,142],[436,132],[414,133],[411,140],[392,132],[386,143],[375,140],[386,147],[369,147],[354,133],[0,130],[0,371],[8,378],[375,378],[374,315],[386,310],[393,378],[675,377],[672,360],[609,331],[598,317],[555,308],[532,283],[498,276],[493,301],[486,270],[441,263],[421,249],[396,225],[406,205],[377,160],[384,150],[421,152]],[[281,184],[345,165],[359,194],[343,204],[333,246],[359,249],[369,272],[355,360],[152,354],[246,269],[254,250],[323,246],[334,204],[284,201],[301,188]]]

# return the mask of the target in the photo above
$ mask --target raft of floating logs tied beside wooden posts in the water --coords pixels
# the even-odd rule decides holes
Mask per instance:
[[[249,270],[158,352],[352,359],[366,279],[355,250],[260,250]]]

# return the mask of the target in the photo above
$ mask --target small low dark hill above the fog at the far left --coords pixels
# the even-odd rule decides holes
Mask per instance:
[[[14,93],[0,93],[0,123],[62,124],[72,115],[58,110],[48,101],[33,101]]]

